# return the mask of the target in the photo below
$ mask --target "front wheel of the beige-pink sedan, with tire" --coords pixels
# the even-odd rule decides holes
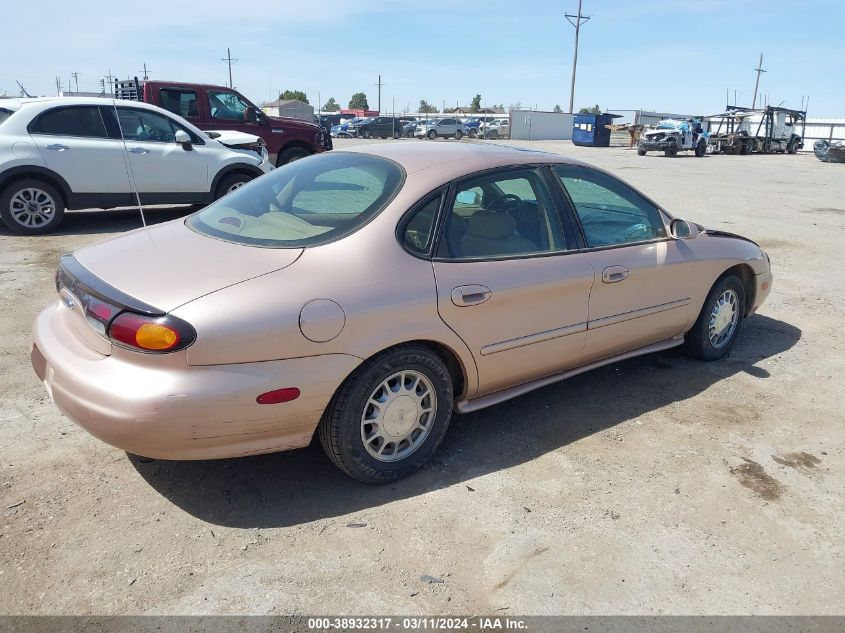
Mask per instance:
[[[728,355],[745,318],[745,286],[736,275],[719,279],[707,295],[701,313],[686,333],[688,354],[701,360],[718,360]]]

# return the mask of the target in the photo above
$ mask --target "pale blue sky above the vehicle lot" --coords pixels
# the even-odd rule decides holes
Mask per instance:
[[[845,0],[584,0],[575,107],[712,113],[737,90],[750,105],[760,53],[769,102],[811,117],[845,117]],[[345,106],[363,91],[375,107],[415,110],[489,104],[550,110],[569,103],[577,0],[315,2],[165,0],[4,4],[0,92],[55,94],[79,73],[98,89],[109,70],[127,77],[146,62],[152,78],[223,84],[226,47],[235,86],[250,99],[280,89],[319,91]],[[14,28],[9,28],[14,26]]]

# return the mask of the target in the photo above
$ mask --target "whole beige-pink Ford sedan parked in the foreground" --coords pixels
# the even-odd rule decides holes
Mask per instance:
[[[638,354],[725,356],[769,293],[752,241],[555,154],[397,143],[285,165],[65,255],[32,363],[154,458],[302,447],[396,479],[453,412]]]

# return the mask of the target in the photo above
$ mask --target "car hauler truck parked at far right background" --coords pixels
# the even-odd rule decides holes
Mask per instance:
[[[797,154],[804,147],[804,127],[807,112],[776,106],[752,110],[739,106],[727,106],[725,112],[708,119],[718,120],[708,139],[709,151],[717,154]],[[801,134],[797,133],[801,125]]]

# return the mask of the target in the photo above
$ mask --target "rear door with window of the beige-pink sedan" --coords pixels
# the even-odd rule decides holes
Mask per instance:
[[[434,259],[441,318],[478,368],[475,395],[579,363],[594,273],[570,252],[541,170],[461,181]]]

